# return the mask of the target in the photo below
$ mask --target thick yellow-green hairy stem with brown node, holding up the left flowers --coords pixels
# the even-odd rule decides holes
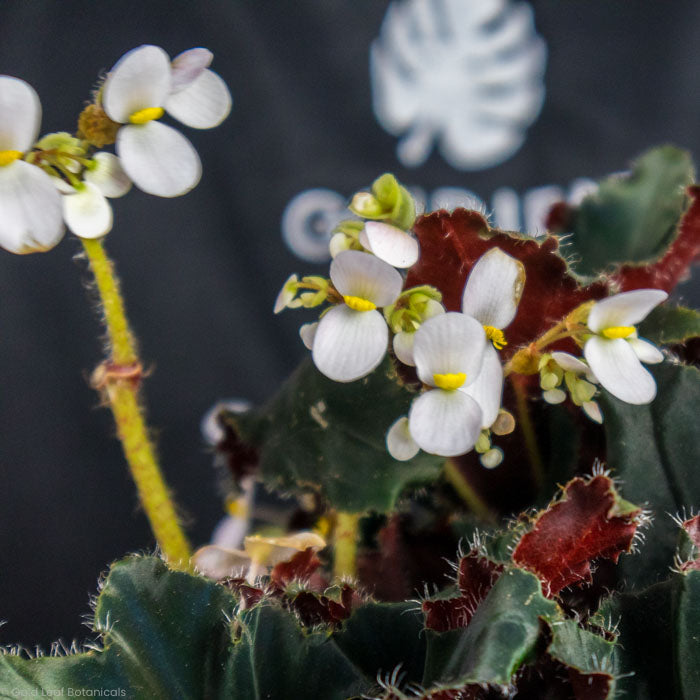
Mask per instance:
[[[95,277],[109,338],[109,358],[95,371],[93,384],[103,391],[117,424],[124,456],[136,483],[151,530],[171,566],[189,567],[190,547],[163,480],[139,401],[141,363],[112,262],[102,241],[81,239]]]

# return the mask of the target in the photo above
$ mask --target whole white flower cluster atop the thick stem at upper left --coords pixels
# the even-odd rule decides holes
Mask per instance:
[[[64,224],[81,238],[112,228],[106,198],[133,182],[144,192],[176,197],[199,181],[192,144],[158,120],[167,112],[197,129],[220,124],[231,109],[223,80],[208,69],[212,54],[197,48],[172,62],[158,46],[124,55],[108,73],[76,136],[37,141],[41,104],[23,80],[0,76],[0,246],[12,253],[45,251]],[[116,140],[117,155],[97,151]]]

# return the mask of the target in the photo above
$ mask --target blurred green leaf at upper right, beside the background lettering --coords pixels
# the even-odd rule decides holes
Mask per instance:
[[[576,271],[594,275],[613,263],[661,256],[675,236],[693,182],[690,155],[673,146],[644,153],[629,175],[600,183],[573,214],[570,251]]]

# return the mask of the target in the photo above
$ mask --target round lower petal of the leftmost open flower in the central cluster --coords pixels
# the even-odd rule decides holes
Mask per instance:
[[[314,364],[336,382],[352,382],[382,361],[388,341],[389,328],[378,311],[354,311],[340,304],[318,323]]]

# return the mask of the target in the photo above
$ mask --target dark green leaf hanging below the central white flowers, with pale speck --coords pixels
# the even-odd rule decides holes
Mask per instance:
[[[434,479],[444,462],[423,452],[398,462],[387,452],[386,432],[412,398],[388,359],[349,384],[327,379],[307,359],[266,406],[225,420],[258,449],[270,488],[316,489],[340,510],[385,513],[407,485]]]

